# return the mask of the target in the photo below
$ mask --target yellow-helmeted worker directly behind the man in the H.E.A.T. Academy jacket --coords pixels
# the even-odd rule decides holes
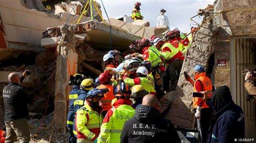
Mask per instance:
[[[132,106],[133,108],[137,109],[140,105],[142,105],[142,99],[145,95],[148,95],[149,92],[146,91],[142,85],[134,85],[132,87],[132,94],[131,94],[131,100],[132,100]]]

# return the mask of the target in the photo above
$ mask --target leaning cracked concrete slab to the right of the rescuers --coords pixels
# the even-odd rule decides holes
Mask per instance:
[[[212,14],[207,14],[204,19],[211,16]],[[191,113],[193,85],[185,81],[182,73],[186,71],[188,75],[192,75],[193,67],[198,64],[207,69],[208,60],[214,51],[216,28],[212,20],[203,20],[199,30],[193,34],[193,41],[186,52],[176,91],[167,94],[172,106],[166,118],[171,119],[174,125],[193,128],[194,114]]]

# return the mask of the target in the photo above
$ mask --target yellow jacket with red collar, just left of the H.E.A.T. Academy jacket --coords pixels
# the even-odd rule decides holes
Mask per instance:
[[[134,116],[135,110],[131,106],[130,99],[117,99],[113,106],[114,107],[111,108],[111,110],[107,111],[103,120],[98,137],[98,143],[120,142],[120,135],[122,133],[125,121]]]

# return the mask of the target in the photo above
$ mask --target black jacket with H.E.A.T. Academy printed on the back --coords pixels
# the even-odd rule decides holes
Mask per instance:
[[[170,120],[160,117],[152,106],[141,105],[124,124],[121,142],[180,142]]]

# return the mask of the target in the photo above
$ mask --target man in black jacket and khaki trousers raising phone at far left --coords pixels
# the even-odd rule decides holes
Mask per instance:
[[[19,142],[29,142],[29,124],[26,118],[29,116],[28,103],[32,102],[21,83],[31,71],[25,70],[19,77],[17,73],[8,75],[8,84],[3,88],[4,99],[4,122],[6,126],[5,142],[14,142],[18,138]]]

